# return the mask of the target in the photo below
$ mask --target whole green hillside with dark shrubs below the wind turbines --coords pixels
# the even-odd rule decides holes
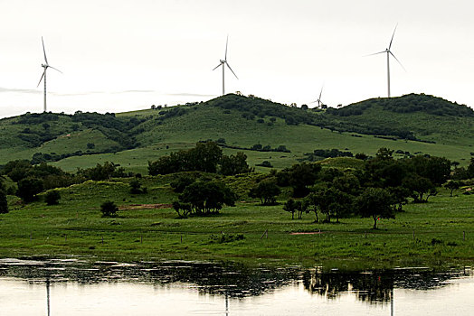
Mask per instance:
[[[112,161],[146,172],[148,160],[207,139],[219,140],[224,152],[244,151],[251,165],[269,161],[276,168],[297,163],[316,149],[374,154],[383,146],[465,164],[474,152],[473,124],[469,107],[424,95],[374,98],[322,111],[230,94],[199,104],[117,115],[5,118],[0,120],[0,164],[28,159],[75,170]],[[270,151],[250,150],[259,146]],[[286,151],[274,151],[279,147]]]

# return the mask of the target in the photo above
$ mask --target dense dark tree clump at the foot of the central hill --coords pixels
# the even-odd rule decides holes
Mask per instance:
[[[223,175],[251,172],[245,153],[229,156],[214,142],[197,143],[194,148],[181,150],[148,162],[150,175],[175,172],[220,172]]]

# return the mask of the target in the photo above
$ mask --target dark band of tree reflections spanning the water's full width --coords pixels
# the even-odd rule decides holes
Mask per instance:
[[[0,276],[29,282],[114,283],[141,282],[156,285],[184,283],[200,293],[243,298],[269,293],[302,281],[308,292],[327,299],[354,293],[364,302],[390,302],[393,288],[429,290],[447,281],[472,275],[468,271],[437,272],[431,269],[374,270],[370,272],[324,272],[299,267],[266,268],[230,262],[162,262],[118,264],[79,260],[0,260]]]

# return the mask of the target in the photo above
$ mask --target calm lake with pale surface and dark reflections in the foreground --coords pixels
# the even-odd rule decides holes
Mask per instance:
[[[470,267],[0,259],[2,315],[472,315]]]

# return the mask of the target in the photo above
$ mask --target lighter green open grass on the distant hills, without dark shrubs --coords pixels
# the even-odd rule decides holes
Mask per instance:
[[[223,97],[225,98],[225,97]],[[243,97],[242,97],[243,98]],[[369,100],[370,101],[370,100]],[[252,102],[246,99],[245,102]],[[364,102],[362,102],[364,103]],[[212,104],[212,102],[211,102]],[[283,106],[281,106],[283,107]],[[245,151],[249,163],[255,165],[264,160],[270,161],[276,168],[287,167],[297,163],[304,157],[304,153],[315,149],[349,150],[353,153],[368,153],[373,155],[378,148],[388,147],[393,150],[402,150],[410,153],[430,153],[445,156],[450,160],[458,161],[461,165],[469,163],[469,153],[474,152],[471,139],[474,137],[472,117],[432,116],[420,112],[411,114],[397,114],[383,107],[374,105],[368,107],[360,116],[329,116],[332,119],[387,126],[409,126],[416,135],[425,140],[433,140],[436,144],[420,142],[393,141],[374,138],[372,135],[354,137],[353,133],[331,132],[313,125],[286,125],[277,118],[274,125],[268,125],[270,119],[264,117],[265,123],[257,123],[256,119],[247,120],[237,109],[231,109],[225,114],[222,108],[209,104],[200,104],[194,107],[184,107],[188,112],[184,116],[175,116],[163,121],[157,120],[162,110],[143,110],[118,114],[118,117],[146,117],[147,121],[137,126],[143,133],[137,135],[137,141],[142,145],[139,148],[119,153],[103,153],[70,157],[58,163],[65,170],[73,171],[77,167],[85,168],[96,163],[112,161],[119,163],[128,170],[146,172],[147,161],[157,157],[194,146],[195,142],[206,139],[217,140],[224,138],[227,144],[250,147],[252,144],[270,144],[272,147],[286,145],[291,153],[259,153]],[[302,111],[292,108],[292,111]],[[295,112],[296,113],[296,112]],[[323,115],[319,113],[319,115]],[[107,139],[98,130],[81,130],[71,132],[71,119],[60,116],[59,121],[52,122],[54,131],[62,131],[58,138],[43,144],[41,147],[28,148],[24,142],[15,138],[15,135],[25,127],[43,128],[42,126],[11,125],[15,118],[0,120],[0,129],[4,132],[0,141],[0,164],[14,159],[31,159],[33,153],[73,153],[87,151],[87,143],[96,144],[95,152],[103,151],[117,143]],[[456,128],[454,128],[455,126]],[[65,135],[71,134],[70,137]],[[168,148],[166,149],[166,146]],[[224,150],[224,153],[235,153],[234,150]],[[257,168],[258,171],[266,171]]]

